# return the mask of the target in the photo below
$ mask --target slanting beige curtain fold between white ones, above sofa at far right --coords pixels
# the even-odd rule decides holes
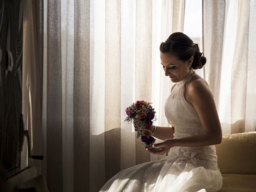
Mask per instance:
[[[250,0],[239,0],[231,71],[231,134],[242,133],[245,130],[249,20]]]

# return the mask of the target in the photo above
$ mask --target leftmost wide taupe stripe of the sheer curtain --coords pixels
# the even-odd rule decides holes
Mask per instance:
[[[48,2],[47,34],[47,184],[63,191],[62,64],[60,0]]]

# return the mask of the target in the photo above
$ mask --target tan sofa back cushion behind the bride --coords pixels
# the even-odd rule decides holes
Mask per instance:
[[[256,174],[256,132],[222,136],[215,146],[222,174]]]

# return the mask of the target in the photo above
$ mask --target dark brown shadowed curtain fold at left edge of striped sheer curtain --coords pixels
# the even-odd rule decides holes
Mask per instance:
[[[41,126],[42,126],[42,0],[32,1],[32,33],[30,36],[30,122],[31,122],[31,153],[41,154]],[[41,166],[40,160],[28,161],[28,165]],[[41,171],[39,169],[38,174]]]

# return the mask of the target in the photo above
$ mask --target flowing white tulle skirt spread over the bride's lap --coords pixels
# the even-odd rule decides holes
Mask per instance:
[[[221,187],[219,169],[195,166],[191,159],[166,156],[118,172],[100,192],[217,192]]]

